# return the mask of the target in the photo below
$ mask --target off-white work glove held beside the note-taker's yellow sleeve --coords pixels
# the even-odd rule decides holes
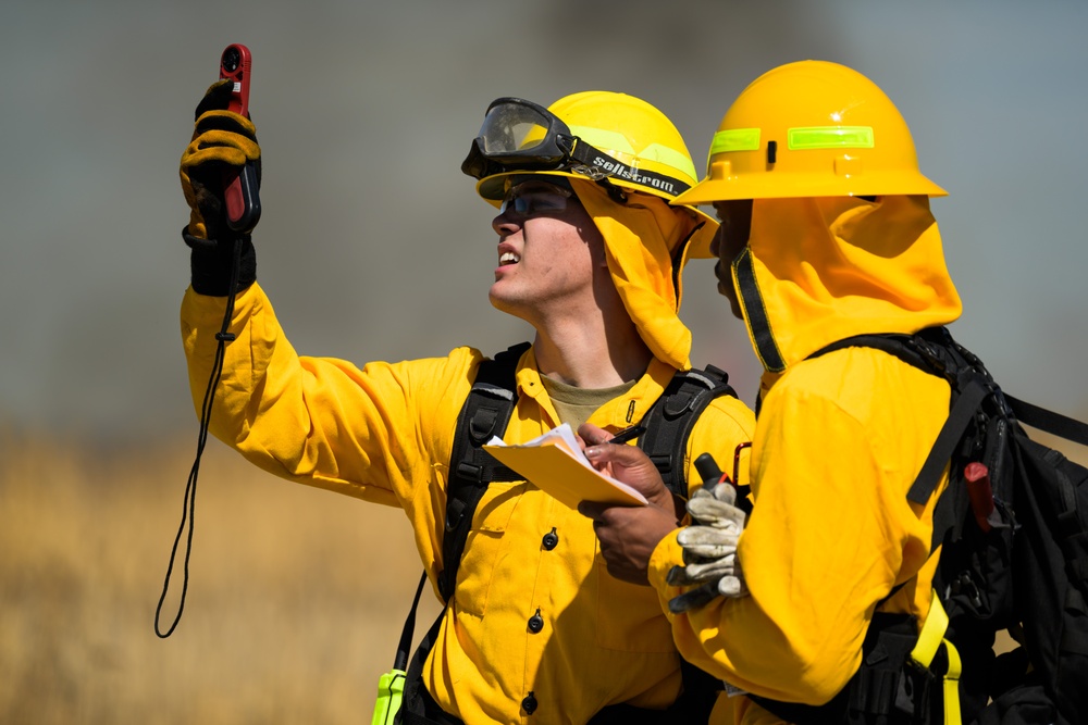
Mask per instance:
[[[694,522],[677,534],[684,566],[673,566],[666,582],[700,585],[669,600],[669,611],[681,614],[705,607],[716,597],[744,597],[747,586],[737,561],[737,540],[744,530],[744,512],[733,505],[737,489],[727,483],[700,488],[688,501]]]

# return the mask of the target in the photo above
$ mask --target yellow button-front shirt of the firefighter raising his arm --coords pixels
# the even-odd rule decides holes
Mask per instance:
[[[224,299],[189,289],[182,334],[199,408]],[[259,285],[238,295],[211,432],[283,478],[399,507],[432,584],[443,568],[442,530],[452,438],[482,355],[374,362],[362,370],[299,357]],[[654,360],[626,393],[590,418],[613,429],[638,423],[675,368]],[[532,350],[518,366],[518,405],[505,440],[558,424]],[[719,398],[703,413],[683,462],[703,452],[730,461],[751,439],[751,411]],[[543,537],[555,532],[558,545]],[[380,552],[374,552],[380,555]],[[532,632],[534,615],[544,626]],[[615,703],[663,709],[677,697],[679,659],[651,587],[608,575],[589,518],[530,483],[494,483],[473,516],[456,592],[424,670],[447,712],[466,723],[585,723]],[[528,716],[521,702],[533,693]]]

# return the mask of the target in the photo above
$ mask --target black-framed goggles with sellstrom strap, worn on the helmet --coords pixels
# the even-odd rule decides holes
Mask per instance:
[[[629,166],[593,148],[554,113],[520,98],[492,101],[461,171],[477,179],[519,171],[565,171],[594,182],[615,178],[651,188],[689,188],[679,179]]]

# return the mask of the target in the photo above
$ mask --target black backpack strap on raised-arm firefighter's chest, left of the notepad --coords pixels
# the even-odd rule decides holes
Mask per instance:
[[[457,417],[454,445],[449,455],[449,480],[446,483],[446,522],[442,537],[443,571],[438,591],[449,601],[457,580],[457,567],[465,550],[472,514],[487,484],[493,480],[520,480],[514,471],[502,465],[481,447],[492,436],[502,436],[518,402],[515,373],[529,342],[515,345],[484,360],[475,382]]]

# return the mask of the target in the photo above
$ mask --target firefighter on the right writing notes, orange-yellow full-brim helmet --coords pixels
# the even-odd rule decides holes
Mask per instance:
[[[929,210],[944,193],[918,172],[910,130],[876,85],[805,61],[741,93],[714,136],[707,176],[679,199],[715,207],[718,288],[765,368],[754,508],[745,524],[725,497],[708,507],[717,532],[695,521],[659,540],[648,561],[622,565],[646,567],[682,654],[734,688],[713,722],[900,722],[874,712],[894,711],[894,682],[874,697],[861,690],[881,686],[848,684],[876,613],[899,615],[912,637],[930,614],[937,493],[917,505],[906,492],[948,415],[949,385],[874,349],[809,355],[853,335],[960,316]],[[590,453],[601,465],[622,461],[621,476],[652,491],[636,451],[618,448]],[[938,491],[945,484],[947,474]],[[654,530],[648,510],[585,511],[608,558]],[[706,565],[695,551],[707,543],[718,547],[719,577],[693,586],[684,572]]]

